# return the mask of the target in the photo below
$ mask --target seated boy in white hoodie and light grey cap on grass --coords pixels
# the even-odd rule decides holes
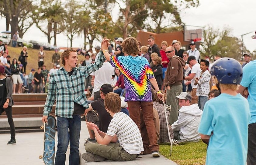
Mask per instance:
[[[202,110],[197,104],[191,105],[192,97],[182,92],[175,99],[179,100],[179,116],[171,128],[174,130],[174,139],[186,141],[199,141],[201,139],[197,129],[202,117]]]

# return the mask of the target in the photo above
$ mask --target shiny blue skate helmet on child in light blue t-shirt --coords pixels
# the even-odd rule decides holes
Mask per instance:
[[[211,75],[214,75],[221,84],[240,84],[243,69],[237,60],[225,57],[213,63]]]

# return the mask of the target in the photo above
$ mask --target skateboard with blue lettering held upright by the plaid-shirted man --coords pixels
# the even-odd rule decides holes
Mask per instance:
[[[49,115],[47,123],[44,123],[40,129],[44,129],[43,155],[39,159],[43,159],[45,165],[54,165],[55,156],[55,130],[56,119],[53,115]]]

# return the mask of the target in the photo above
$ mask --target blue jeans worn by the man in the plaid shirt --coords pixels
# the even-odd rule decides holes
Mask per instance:
[[[80,115],[74,116],[73,119],[57,116],[58,149],[55,165],[65,165],[68,143],[70,143],[69,165],[79,165],[80,130]]]

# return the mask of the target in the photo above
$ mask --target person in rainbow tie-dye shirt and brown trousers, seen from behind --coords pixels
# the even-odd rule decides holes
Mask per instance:
[[[126,89],[125,101],[128,103],[131,119],[140,129],[140,108],[143,111],[144,122],[150,141],[150,151],[153,157],[160,157],[159,145],[157,144],[156,128],[153,120],[153,103],[150,90],[150,83],[157,92],[158,97],[163,98],[163,94],[158,88],[153,71],[146,58],[138,56],[139,45],[134,37],[126,38],[122,43],[124,54],[128,56],[115,57],[108,53],[109,40],[102,41],[102,50],[113,67],[117,67],[124,75]]]

